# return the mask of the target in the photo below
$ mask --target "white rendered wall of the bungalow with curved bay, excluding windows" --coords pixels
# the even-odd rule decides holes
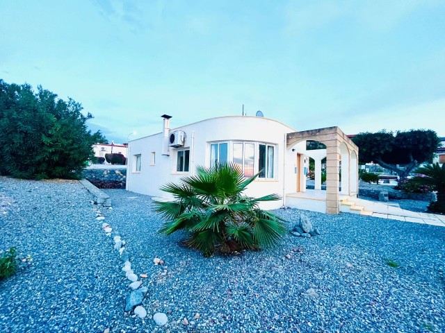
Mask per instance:
[[[162,128],[159,128],[159,130],[162,130]],[[286,189],[284,189],[284,163],[286,159],[284,156],[293,155],[291,152],[286,151],[286,133],[295,132],[292,128],[272,119],[234,116],[207,119],[172,129],[170,133],[174,130],[183,130],[186,133],[184,148],[190,148],[190,171],[186,173],[178,173],[176,171],[176,153],[182,147],[170,148],[170,156],[161,155],[162,133],[136,139],[129,142],[127,190],[149,196],[168,198],[169,194],[161,191],[159,187],[167,182],[179,182],[183,176],[193,175],[198,165],[209,167],[211,143],[228,142],[228,160],[232,160],[231,144],[233,142],[254,142],[256,143],[254,157],[255,173],[258,172],[257,144],[266,143],[275,146],[274,179],[257,178],[248,187],[245,194],[258,197],[273,193],[283,196],[286,193]],[[153,152],[155,154],[155,163],[150,165]],[[139,154],[141,156],[141,167],[140,172],[136,172],[135,155]],[[295,179],[291,183],[294,184]],[[289,191],[295,191],[295,187]],[[265,203],[261,207],[273,209],[281,207],[283,204],[283,200],[277,200]]]

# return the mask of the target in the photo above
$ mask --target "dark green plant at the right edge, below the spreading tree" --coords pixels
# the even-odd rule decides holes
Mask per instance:
[[[416,170],[423,177],[412,178],[413,182],[421,185],[429,185],[437,191],[437,200],[430,203],[428,209],[432,212],[445,213],[445,164],[429,164]]]

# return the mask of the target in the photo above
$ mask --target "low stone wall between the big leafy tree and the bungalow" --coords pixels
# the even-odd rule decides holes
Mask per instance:
[[[84,169],[83,177],[99,189],[124,189],[127,169]]]

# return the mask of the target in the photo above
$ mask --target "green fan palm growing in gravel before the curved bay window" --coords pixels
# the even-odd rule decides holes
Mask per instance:
[[[168,183],[161,190],[172,202],[156,202],[156,212],[167,220],[159,232],[187,230],[185,243],[206,257],[215,251],[234,253],[271,246],[286,232],[282,219],[259,209],[261,201],[279,200],[277,194],[250,198],[244,189],[257,178],[244,178],[234,164],[197,167],[195,176]]]

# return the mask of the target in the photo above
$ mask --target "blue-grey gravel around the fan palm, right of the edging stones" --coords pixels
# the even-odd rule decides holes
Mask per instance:
[[[149,275],[147,312],[168,315],[163,330],[187,332],[181,321],[195,314],[196,332],[445,330],[445,228],[276,210],[289,228],[304,212],[323,232],[307,239],[288,233],[274,248],[206,259],[181,246],[186,234],[158,233],[163,221],[148,196],[106,192],[114,208],[107,221],[128,241],[134,271]],[[155,266],[155,257],[165,264]],[[311,288],[317,298],[303,295]]]

